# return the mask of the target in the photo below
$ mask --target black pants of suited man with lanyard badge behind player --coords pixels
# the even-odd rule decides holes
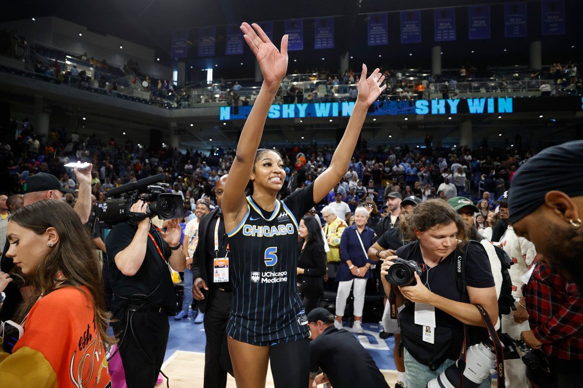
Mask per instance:
[[[227,372],[233,376],[226,333],[232,298],[233,293],[230,292],[209,291],[203,321],[206,334],[204,388],[224,388]]]

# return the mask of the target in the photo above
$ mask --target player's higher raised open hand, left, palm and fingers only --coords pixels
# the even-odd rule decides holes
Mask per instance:
[[[259,24],[253,23],[250,26],[244,22],[240,28],[245,34],[243,35],[245,42],[259,62],[265,82],[279,88],[287,71],[287,35],[283,35],[282,46],[278,50]]]

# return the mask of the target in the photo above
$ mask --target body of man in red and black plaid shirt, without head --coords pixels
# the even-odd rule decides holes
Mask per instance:
[[[521,338],[534,349],[542,348],[550,373],[526,368],[526,376],[538,388],[582,386],[583,297],[575,283],[551,272],[542,255],[532,271],[522,289],[531,330]]]

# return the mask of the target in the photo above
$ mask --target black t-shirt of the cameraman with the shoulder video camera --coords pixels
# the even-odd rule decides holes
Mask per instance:
[[[125,276],[115,265],[115,256],[132,242],[135,233],[134,226],[122,222],[107,235],[107,259],[114,291],[112,309],[123,308],[127,302],[125,298],[129,296],[143,294],[148,296],[148,305],[164,307],[168,315],[175,315],[176,297],[167,262],[171,251],[154,226],[150,226],[150,234],[163,252],[164,259],[152,239],[147,237],[146,257],[134,276]]]

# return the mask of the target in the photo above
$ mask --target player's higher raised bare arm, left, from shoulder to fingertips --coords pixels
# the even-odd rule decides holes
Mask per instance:
[[[253,169],[267,113],[287,70],[287,35],[283,35],[279,51],[258,24],[250,26],[243,23],[241,30],[259,62],[264,81],[241,131],[237,153],[225,183],[221,208],[227,222],[243,218],[241,210],[245,207],[245,186]]]

